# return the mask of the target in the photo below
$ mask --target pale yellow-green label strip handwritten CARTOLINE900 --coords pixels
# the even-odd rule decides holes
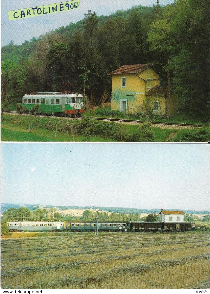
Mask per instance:
[[[54,14],[56,12],[71,11],[80,8],[79,0],[8,11],[9,20],[23,19],[26,17]]]

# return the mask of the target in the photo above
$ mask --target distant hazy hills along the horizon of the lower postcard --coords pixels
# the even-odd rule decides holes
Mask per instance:
[[[43,207],[43,205],[40,204],[12,204],[12,203],[1,203],[1,214],[4,213],[9,208],[19,208],[21,206],[27,207],[30,210],[34,210],[39,208],[40,206]],[[52,208],[55,207],[53,205],[46,205],[44,208]],[[140,214],[140,213],[159,213],[161,211],[161,208],[153,208],[153,209],[138,209],[138,208],[125,208],[125,207],[103,207],[103,206],[56,206],[57,209],[59,210],[67,210],[67,209],[99,209],[100,211],[109,211],[109,212],[115,212],[115,213],[134,213],[134,214]],[[171,208],[163,208],[164,210],[183,210],[182,208],[177,208],[177,209],[171,209]],[[198,210],[183,210],[185,213],[189,214],[210,214],[210,211],[203,210],[203,211],[198,211]]]

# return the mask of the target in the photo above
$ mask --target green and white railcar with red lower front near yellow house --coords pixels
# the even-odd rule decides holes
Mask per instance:
[[[75,115],[84,112],[83,96],[78,93],[65,94],[63,92],[37,92],[23,96],[22,108],[26,113],[39,104],[37,113]]]

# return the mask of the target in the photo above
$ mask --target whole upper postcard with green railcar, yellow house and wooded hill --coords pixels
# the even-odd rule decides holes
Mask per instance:
[[[208,1],[1,0],[1,141],[210,141]]]

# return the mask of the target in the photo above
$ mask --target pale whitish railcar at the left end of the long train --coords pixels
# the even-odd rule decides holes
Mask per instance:
[[[7,223],[7,228],[10,232],[61,232],[64,230],[63,222],[24,220],[10,221]]]

